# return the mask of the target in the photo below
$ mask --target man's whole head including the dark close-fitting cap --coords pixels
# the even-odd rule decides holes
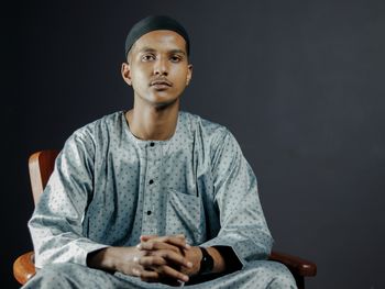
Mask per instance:
[[[155,105],[178,100],[191,79],[186,30],[167,16],[150,16],[138,22],[125,41],[124,81],[133,87],[135,99]]]

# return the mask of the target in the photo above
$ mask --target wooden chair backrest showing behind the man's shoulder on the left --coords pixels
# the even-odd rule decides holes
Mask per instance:
[[[36,204],[54,170],[55,159],[59,151],[46,149],[34,153],[29,159],[30,179],[33,201]]]

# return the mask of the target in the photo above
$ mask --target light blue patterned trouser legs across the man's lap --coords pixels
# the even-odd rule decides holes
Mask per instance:
[[[216,276],[218,277],[218,276]],[[195,279],[187,288],[296,288],[288,269],[275,262],[254,260],[243,269],[207,280]],[[136,277],[88,268],[77,264],[63,263],[45,266],[24,288],[172,288],[163,284],[148,284]]]

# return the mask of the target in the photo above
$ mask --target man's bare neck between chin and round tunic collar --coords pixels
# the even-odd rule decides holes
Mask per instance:
[[[170,138],[178,121],[179,103],[167,108],[135,105],[125,113],[131,133],[140,140]]]

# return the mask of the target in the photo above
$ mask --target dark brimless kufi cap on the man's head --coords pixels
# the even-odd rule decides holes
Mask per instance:
[[[186,41],[187,55],[189,55],[190,42],[187,31],[176,20],[169,16],[156,15],[147,16],[139,21],[129,32],[125,38],[125,56],[131,49],[132,45],[144,34],[154,30],[170,30],[178,33]]]

